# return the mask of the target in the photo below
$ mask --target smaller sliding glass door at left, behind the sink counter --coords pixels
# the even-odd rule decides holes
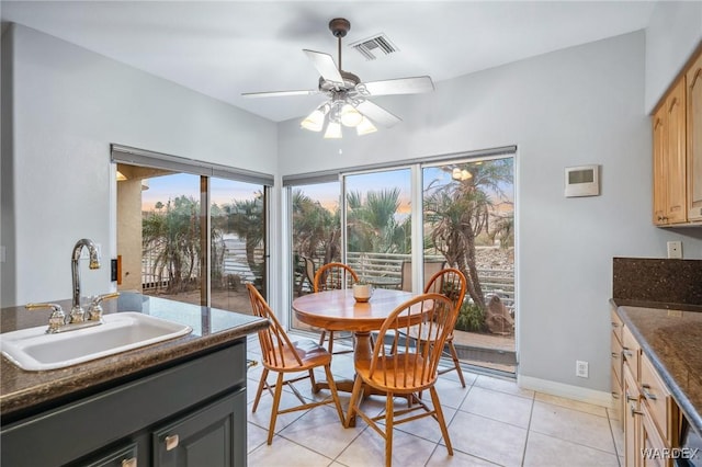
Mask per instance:
[[[250,312],[265,295],[267,187],[117,164],[118,291]]]

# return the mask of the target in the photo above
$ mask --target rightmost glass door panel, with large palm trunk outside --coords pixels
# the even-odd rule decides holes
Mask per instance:
[[[468,280],[454,343],[467,363],[514,373],[513,158],[423,169],[424,258]]]

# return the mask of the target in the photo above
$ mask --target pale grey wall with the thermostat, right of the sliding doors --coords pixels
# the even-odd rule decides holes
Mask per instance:
[[[699,238],[650,221],[644,34],[376,102],[404,122],[360,138],[348,132],[341,141],[302,130],[298,121],[281,124],[281,174],[518,145],[520,377],[609,400],[612,257],[663,257],[676,238],[687,258],[702,258]],[[587,163],[602,166],[601,196],[565,198],[564,168]],[[590,363],[588,379],[575,376],[576,360]]]

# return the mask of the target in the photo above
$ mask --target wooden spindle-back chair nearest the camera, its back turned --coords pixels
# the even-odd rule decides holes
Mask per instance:
[[[393,430],[395,425],[424,417],[432,417],[439,422],[443,441],[453,455],[446,421],[441,410],[441,402],[434,384],[439,377],[438,368],[442,349],[456,321],[456,307],[440,294],[422,294],[395,308],[380,330],[381,342],[392,339],[393,344],[375,345],[370,361],[354,362],[356,377],[349,402],[346,426],[358,414],[373,430],[385,438],[385,465],[393,460]],[[423,335],[424,345],[412,345],[405,337],[410,330]],[[400,332],[395,332],[400,331]],[[385,392],[385,412],[371,417],[361,409],[363,392],[370,387]],[[432,407],[424,403],[416,395],[422,390],[431,394]],[[409,398],[407,407],[395,409],[396,396]],[[416,413],[420,411],[419,413]],[[384,424],[381,421],[384,420]]]

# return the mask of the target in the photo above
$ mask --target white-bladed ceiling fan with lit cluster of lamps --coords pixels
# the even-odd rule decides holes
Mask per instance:
[[[329,30],[338,38],[338,66],[329,54],[304,49],[307,58],[319,71],[319,84],[315,90],[247,92],[246,98],[275,98],[282,95],[326,94],[329,99],[315,109],[301,126],[321,132],[327,126],[325,138],[341,138],[341,125],[355,127],[359,135],[376,132],[375,124],[390,127],[400,118],[371,102],[367,98],[389,94],[416,94],[434,90],[428,76],[362,82],[361,78],[341,69],[341,38],[351,29],[343,18],[329,22]]]

